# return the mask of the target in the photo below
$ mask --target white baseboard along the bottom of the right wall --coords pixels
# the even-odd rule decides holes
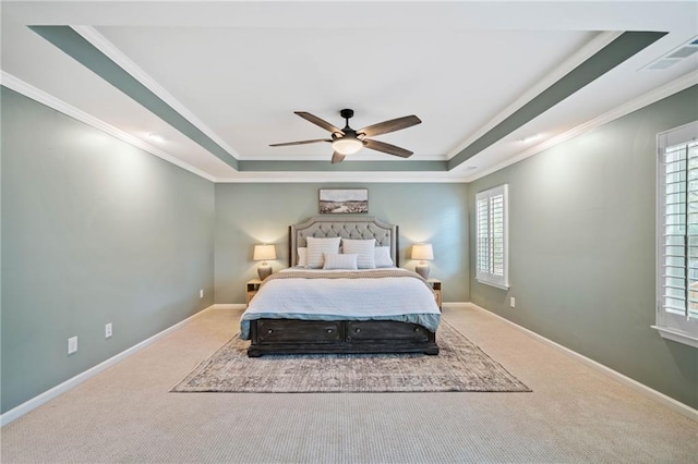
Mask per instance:
[[[474,303],[467,303],[467,306],[470,306],[477,310],[481,310],[484,312],[491,316],[496,317],[497,319],[508,323],[509,326],[512,326],[513,328],[526,333],[527,335],[542,342],[545,343],[546,345],[568,355],[574,357],[577,361],[580,361],[581,363],[586,364],[587,366],[590,366],[610,377],[612,377],[614,380],[617,380],[618,382],[623,383],[626,387],[631,388],[633,390],[643,394],[645,396],[657,401],[658,403],[663,404],[664,406],[677,412],[678,414],[681,414],[682,416],[685,416],[694,422],[698,422],[698,410],[694,410],[693,407],[690,407],[687,404],[684,404],[679,401],[674,400],[671,396],[665,395],[662,392],[659,392],[654,389],[651,389],[650,387],[646,386],[645,383],[640,383],[637,380],[634,380],[621,373],[618,373],[617,370],[613,370],[610,367],[604,366],[601,363],[598,363],[593,359],[588,358],[585,355],[581,355],[579,353],[577,353],[576,351],[573,351],[566,346],[561,345],[559,343],[556,343],[550,339],[546,339],[545,337],[538,334],[535,332],[533,332],[532,330],[529,330],[525,327],[519,326],[516,322],[512,322],[509,319],[506,319],[497,314],[492,313],[491,310],[488,310],[481,306],[476,305]]]

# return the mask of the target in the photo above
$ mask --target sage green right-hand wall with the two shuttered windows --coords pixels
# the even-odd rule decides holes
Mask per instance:
[[[651,329],[657,134],[698,120],[698,87],[469,185],[509,184],[510,289],[471,301],[691,407],[698,350]],[[470,243],[474,256],[474,242]],[[516,297],[510,308],[509,296]]]

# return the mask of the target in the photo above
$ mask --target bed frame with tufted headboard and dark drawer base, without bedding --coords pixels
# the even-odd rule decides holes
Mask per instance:
[[[314,217],[289,227],[289,267],[298,262],[297,249],[305,237],[375,239],[389,246],[398,266],[397,225],[372,217]],[[248,356],[320,353],[438,354],[436,333],[410,322],[392,320],[257,319],[250,326]]]

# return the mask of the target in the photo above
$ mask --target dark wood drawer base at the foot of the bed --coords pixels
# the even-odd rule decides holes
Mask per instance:
[[[392,320],[257,319],[250,323],[248,356],[321,353],[438,354],[436,334]]]

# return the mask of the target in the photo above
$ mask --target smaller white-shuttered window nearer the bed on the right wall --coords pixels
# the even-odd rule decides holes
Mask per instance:
[[[508,185],[476,196],[478,282],[507,290],[508,277]]]

